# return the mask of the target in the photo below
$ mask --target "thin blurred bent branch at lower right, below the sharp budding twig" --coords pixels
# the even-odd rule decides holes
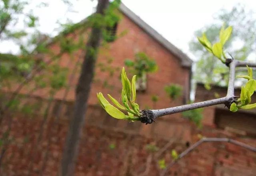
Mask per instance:
[[[243,142],[239,142],[237,140],[234,139],[230,139],[230,138],[202,138],[201,140],[198,140],[196,143],[194,143],[192,146],[190,146],[189,148],[187,148],[186,150],[184,150],[184,152],[182,152],[178,158],[176,160],[174,160],[173,162],[171,162],[165,170],[163,170],[163,172],[161,173],[160,176],[164,176],[166,174],[166,172],[174,165],[178,162],[178,160],[180,158],[183,158],[184,156],[186,156],[187,154],[189,154],[192,150],[194,150],[196,147],[198,147],[200,144],[202,144],[203,142],[229,142],[231,144],[240,146],[242,148],[246,148],[248,150],[251,150],[252,152],[256,152],[256,147],[250,146],[248,144],[245,144]]]

